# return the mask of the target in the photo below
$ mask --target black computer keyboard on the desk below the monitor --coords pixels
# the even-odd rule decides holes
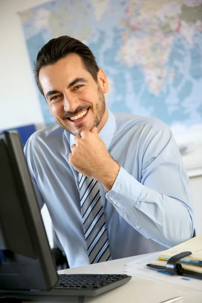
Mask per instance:
[[[12,292],[10,291],[8,293],[5,291],[4,296],[12,298],[14,297],[21,300],[36,301],[51,301],[60,298],[62,301],[64,299],[68,302],[75,302],[75,296],[81,297],[81,299],[85,296],[96,296],[118,286],[121,286],[132,278],[128,275],[116,274],[60,274],[58,277],[58,283],[54,288],[50,290],[20,290]]]

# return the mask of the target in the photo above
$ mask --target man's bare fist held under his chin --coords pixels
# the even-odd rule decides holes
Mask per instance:
[[[69,162],[82,175],[96,179],[106,190],[111,190],[120,166],[112,159],[97,128],[82,130],[74,137]]]

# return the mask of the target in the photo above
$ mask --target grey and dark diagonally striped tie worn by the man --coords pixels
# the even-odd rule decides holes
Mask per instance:
[[[79,173],[81,216],[90,264],[111,260],[98,182]]]

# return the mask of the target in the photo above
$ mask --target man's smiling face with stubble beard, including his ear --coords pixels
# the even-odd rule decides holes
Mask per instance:
[[[108,111],[104,92],[108,90],[103,70],[97,74],[96,83],[86,71],[78,55],[71,54],[39,72],[44,96],[56,122],[72,133],[81,130],[98,131],[105,125]]]

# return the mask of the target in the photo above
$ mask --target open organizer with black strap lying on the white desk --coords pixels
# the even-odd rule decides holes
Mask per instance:
[[[148,267],[202,278],[202,235],[161,251]]]

